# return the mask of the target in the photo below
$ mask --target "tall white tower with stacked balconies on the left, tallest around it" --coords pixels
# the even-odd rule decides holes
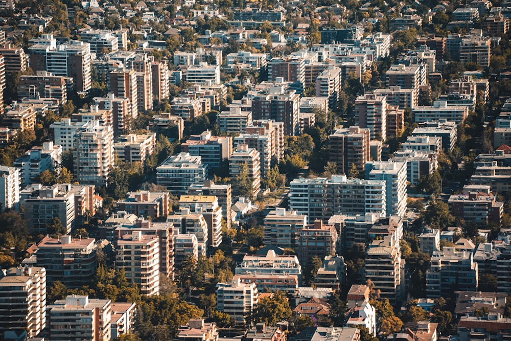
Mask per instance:
[[[80,184],[106,185],[114,164],[112,126],[95,121],[77,131],[75,141],[75,179]]]

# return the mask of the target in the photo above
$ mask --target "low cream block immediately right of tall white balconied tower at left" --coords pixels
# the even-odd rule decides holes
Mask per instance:
[[[155,144],[155,132],[121,135],[113,144],[113,151],[122,161],[144,164],[146,159],[153,154]]]

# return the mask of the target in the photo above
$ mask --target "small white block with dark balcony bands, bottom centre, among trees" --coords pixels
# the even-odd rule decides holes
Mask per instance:
[[[217,283],[217,310],[229,314],[237,325],[245,325],[245,315],[258,304],[259,291],[255,283]]]

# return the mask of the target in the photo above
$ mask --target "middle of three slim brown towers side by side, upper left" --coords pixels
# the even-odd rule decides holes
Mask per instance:
[[[137,54],[131,61],[136,72],[136,93],[138,111],[145,112],[153,109],[153,58],[146,54]]]

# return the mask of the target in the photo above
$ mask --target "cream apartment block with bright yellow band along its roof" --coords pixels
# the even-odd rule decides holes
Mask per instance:
[[[207,245],[218,247],[222,243],[222,209],[214,195],[181,195],[179,208],[202,214],[207,223]]]

